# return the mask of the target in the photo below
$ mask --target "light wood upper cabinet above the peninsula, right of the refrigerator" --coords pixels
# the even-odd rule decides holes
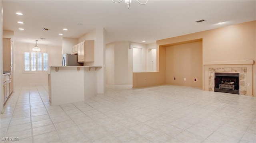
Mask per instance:
[[[80,43],[80,51],[78,49],[78,56],[80,55],[80,61],[78,62],[94,62],[94,40],[86,40]]]

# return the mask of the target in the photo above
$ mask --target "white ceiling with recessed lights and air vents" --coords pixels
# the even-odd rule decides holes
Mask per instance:
[[[16,12],[24,15],[18,16]],[[206,22],[195,22],[202,19]],[[124,1],[115,4],[111,0],[3,1],[3,29],[14,31],[15,41],[35,43],[38,39],[38,45],[61,46],[62,37],[79,38],[98,27],[106,30],[106,43],[142,43],[142,40],[154,43],[159,39],[253,20],[256,20],[255,0],[149,0],[146,5],[132,0],[130,9]],[[20,27],[24,31],[19,30]],[[42,30],[43,27],[50,31]],[[40,40],[40,37],[46,39]]]

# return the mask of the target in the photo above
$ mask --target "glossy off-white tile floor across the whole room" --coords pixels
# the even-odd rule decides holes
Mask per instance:
[[[16,86],[0,115],[1,142],[256,142],[255,97],[131,87],[107,85],[104,95],[50,106],[47,85]]]

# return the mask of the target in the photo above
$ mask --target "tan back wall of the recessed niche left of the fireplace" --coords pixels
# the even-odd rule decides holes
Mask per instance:
[[[166,47],[166,84],[202,89],[202,64],[202,41]]]

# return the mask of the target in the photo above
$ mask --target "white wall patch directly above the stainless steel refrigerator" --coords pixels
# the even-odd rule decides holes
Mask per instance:
[[[72,47],[78,44],[78,40],[74,38],[62,38],[62,54],[71,54]]]

